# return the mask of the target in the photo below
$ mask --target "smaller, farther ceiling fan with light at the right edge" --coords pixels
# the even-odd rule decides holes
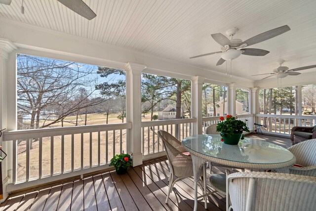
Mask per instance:
[[[295,72],[295,71],[300,71],[300,70],[306,70],[306,69],[311,69],[311,68],[315,68],[316,65],[310,65],[310,66],[305,66],[305,67],[299,67],[299,68],[294,68],[294,69],[290,69],[286,66],[282,66],[282,64],[284,63],[284,60],[278,60],[277,63],[280,65],[278,68],[273,70],[273,73],[264,73],[264,74],[257,74],[257,75],[252,75],[252,76],[261,76],[261,75],[270,75],[266,78],[263,79],[267,79],[270,78],[272,76],[276,76],[277,78],[281,79],[281,78],[285,78],[286,76],[297,76],[300,75],[301,73]],[[261,79],[261,80],[263,80]]]

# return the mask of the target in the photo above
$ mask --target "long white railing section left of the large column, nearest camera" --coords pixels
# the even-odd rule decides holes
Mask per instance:
[[[106,169],[115,154],[126,152],[131,123],[16,130],[12,142],[12,183],[8,191]],[[10,168],[10,167],[9,167]],[[8,169],[9,169],[8,168]]]

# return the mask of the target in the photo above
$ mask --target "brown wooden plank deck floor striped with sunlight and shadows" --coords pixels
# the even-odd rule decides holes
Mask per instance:
[[[285,148],[291,146],[289,138],[250,135]],[[213,168],[222,171],[221,168]],[[0,204],[0,211],[191,211],[194,207],[193,179],[176,183],[165,204],[169,175],[166,158],[146,162],[131,168],[127,174],[104,172],[83,179],[12,194]],[[200,190],[199,190],[200,191]],[[215,193],[214,201],[208,197],[208,210],[225,210],[225,196]],[[198,210],[205,210],[199,201]]]

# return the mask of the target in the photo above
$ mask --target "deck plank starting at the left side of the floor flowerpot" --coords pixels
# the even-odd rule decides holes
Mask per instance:
[[[124,209],[126,211],[137,211],[138,208],[135,205],[135,202],[134,202],[133,198],[131,197],[131,195],[129,194],[124,182],[121,179],[121,177],[114,171],[112,171],[110,174],[111,174],[113,182],[118,190],[118,195],[120,196],[120,199],[122,201]]]

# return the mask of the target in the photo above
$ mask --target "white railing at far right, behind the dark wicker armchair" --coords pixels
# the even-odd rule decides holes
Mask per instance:
[[[264,133],[289,136],[295,126],[312,127],[316,116],[256,114],[256,123],[264,125]]]

